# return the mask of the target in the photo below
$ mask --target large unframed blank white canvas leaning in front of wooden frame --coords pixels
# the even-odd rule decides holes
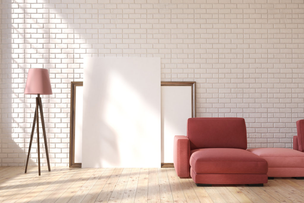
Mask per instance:
[[[160,167],[160,58],[87,58],[82,167]]]

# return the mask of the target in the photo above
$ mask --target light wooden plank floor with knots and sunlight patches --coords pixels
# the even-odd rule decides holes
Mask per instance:
[[[304,180],[197,187],[174,168],[0,167],[0,202],[304,202]]]

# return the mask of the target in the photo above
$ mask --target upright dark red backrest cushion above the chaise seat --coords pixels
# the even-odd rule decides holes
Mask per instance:
[[[244,118],[189,118],[187,137],[190,149],[247,149]]]

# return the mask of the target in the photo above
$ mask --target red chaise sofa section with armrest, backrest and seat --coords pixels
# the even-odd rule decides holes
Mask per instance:
[[[174,137],[174,168],[197,186],[262,186],[268,181],[268,163],[246,149],[244,118],[189,118],[187,136]]]

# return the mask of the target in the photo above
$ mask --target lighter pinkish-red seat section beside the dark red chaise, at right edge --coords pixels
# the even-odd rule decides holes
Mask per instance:
[[[268,162],[269,177],[304,177],[304,153],[288,148],[247,149]]]

